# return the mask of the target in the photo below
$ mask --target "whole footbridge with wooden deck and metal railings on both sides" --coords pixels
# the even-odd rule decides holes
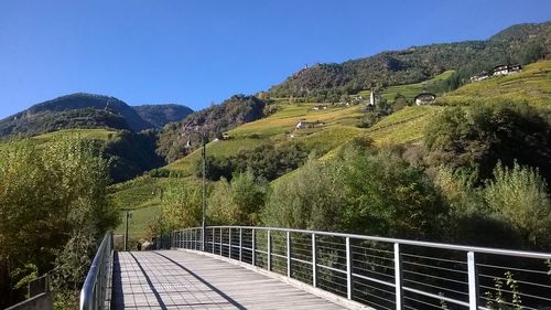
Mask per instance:
[[[551,254],[271,227],[107,234],[80,309],[551,309]]]

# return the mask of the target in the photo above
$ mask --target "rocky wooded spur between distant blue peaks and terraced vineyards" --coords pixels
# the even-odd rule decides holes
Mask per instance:
[[[181,122],[166,125],[159,138],[158,152],[166,161],[173,161],[186,153],[187,140],[201,145],[197,133],[207,140],[219,137],[224,131],[264,116],[266,101],[245,95],[235,95],[220,105],[188,115]]]

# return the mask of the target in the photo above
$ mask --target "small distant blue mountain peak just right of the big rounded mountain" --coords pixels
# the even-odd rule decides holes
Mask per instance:
[[[140,117],[156,128],[169,122],[181,121],[193,110],[182,105],[143,105],[132,107]]]

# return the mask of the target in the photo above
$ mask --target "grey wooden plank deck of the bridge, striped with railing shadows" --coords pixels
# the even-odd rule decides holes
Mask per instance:
[[[114,309],[343,309],[247,268],[183,250],[118,253]]]

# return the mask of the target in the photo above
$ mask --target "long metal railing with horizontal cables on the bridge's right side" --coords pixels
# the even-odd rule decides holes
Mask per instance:
[[[172,232],[201,250],[201,228]],[[551,254],[270,227],[214,226],[205,252],[376,309],[551,307]]]

